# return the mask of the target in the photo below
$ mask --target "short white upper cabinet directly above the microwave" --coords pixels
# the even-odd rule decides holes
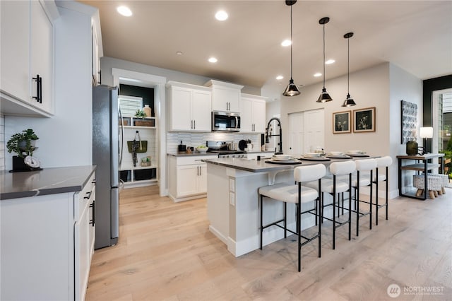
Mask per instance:
[[[206,86],[212,88],[212,110],[240,112],[240,91],[243,85],[210,80]]]

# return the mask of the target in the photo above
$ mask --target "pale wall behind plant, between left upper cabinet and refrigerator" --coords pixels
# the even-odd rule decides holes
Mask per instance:
[[[5,116],[5,138],[32,128],[40,139],[33,154],[42,167],[91,165],[91,16],[58,7],[55,21],[55,116]],[[6,153],[6,169],[12,167]]]

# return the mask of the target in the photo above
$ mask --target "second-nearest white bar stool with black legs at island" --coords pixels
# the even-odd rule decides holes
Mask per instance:
[[[335,235],[336,235],[336,228],[339,228],[340,226],[347,225],[348,224],[348,240],[352,239],[352,213],[350,211],[350,208],[352,206],[352,172],[354,172],[356,169],[355,161],[348,160],[343,162],[333,162],[330,164],[330,172],[333,175],[333,179],[331,178],[323,178],[321,180],[321,195],[322,195],[322,206],[321,206],[321,220],[323,222],[323,219],[330,220],[333,222],[333,249],[335,249]],[[340,180],[338,177],[340,176],[347,176],[347,180]],[[314,182],[309,182],[304,184],[307,187],[316,188]],[[335,216],[335,207],[336,203],[338,204],[339,208],[339,195],[343,194],[343,192],[349,191],[349,203],[348,203],[348,218],[347,220],[340,222],[339,220],[336,220]],[[323,203],[323,193],[328,193],[333,196],[333,203],[325,205]],[[336,199],[336,197],[338,199]],[[326,206],[333,206],[333,218],[326,218],[323,215],[323,209]]]

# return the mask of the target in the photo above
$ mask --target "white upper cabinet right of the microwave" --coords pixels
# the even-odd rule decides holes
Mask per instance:
[[[241,132],[264,133],[266,131],[266,98],[242,93],[240,122]]]

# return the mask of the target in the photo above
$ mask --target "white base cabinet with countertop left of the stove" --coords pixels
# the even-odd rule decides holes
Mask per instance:
[[[207,165],[202,160],[213,158],[218,155],[169,155],[169,198],[186,201],[206,196]]]

